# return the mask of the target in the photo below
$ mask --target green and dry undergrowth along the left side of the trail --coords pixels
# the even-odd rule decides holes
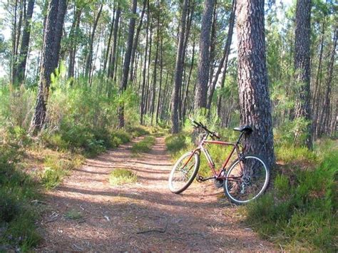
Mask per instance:
[[[121,98],[103,98],[95,88],[67,90],[55,83],[48,123],[32,136],[34,98],[34,89],[0,88],[0,251],[26,251],[39,244],[36,221],[43,212],[43,192],[58,186],[86,158],[159,129],[138,126],[133,105],[126,103],[128,125],[118,130],[112,111]],[[153,137],[148,139],[153,143]]]

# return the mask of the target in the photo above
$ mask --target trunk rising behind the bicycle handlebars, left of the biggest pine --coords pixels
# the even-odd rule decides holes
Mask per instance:
[[[215,0],[205,0],[200,31],[200,61],[195,93],[195,109],[207,107],[207,93],[210,70],[210,31]]]

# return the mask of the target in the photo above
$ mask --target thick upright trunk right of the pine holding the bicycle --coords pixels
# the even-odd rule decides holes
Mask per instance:
[[[299,131],[295,138],[304,133],[306,138],[303,143],[312,149],[312,126],[310,107],[310,15],[311,0],[297,0],[296,29],[295,29],[295,86],[296,103],[295,118],[307,120],[307,127]]]

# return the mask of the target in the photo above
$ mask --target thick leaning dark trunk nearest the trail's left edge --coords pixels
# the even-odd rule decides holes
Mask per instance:
[[[58,46],[57,43],[58,41],[61,41],[61,33],[56,33],[56,31],[62,31],[58,26],[63,26],[63,20],[61,20],[62,17],[64,18],[63,6],[66,6],[66,0],[51,0],[48,5],[48,14],[43,38],[39,91],[36,99],[34,117],[29,129],[31,134],[35,134],[41,130],[46,123],[46,106],[49,95],[49,86],[51,85],[51,73],[53,73],[55,66],[57,66],[56,59],[58,58],[59,53],[57,50],[60,50],[60,46]],[[59,9],[60,12],[58,12]],[[60,36],[60,38],[56,35]]]

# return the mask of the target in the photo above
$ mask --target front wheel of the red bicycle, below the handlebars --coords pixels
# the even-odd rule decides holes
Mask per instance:
[[[185,153],[175,163],[169,176],[169,189],[173,193],[186,190],[195,179],[200,167],[200,156],[197,153]]]

